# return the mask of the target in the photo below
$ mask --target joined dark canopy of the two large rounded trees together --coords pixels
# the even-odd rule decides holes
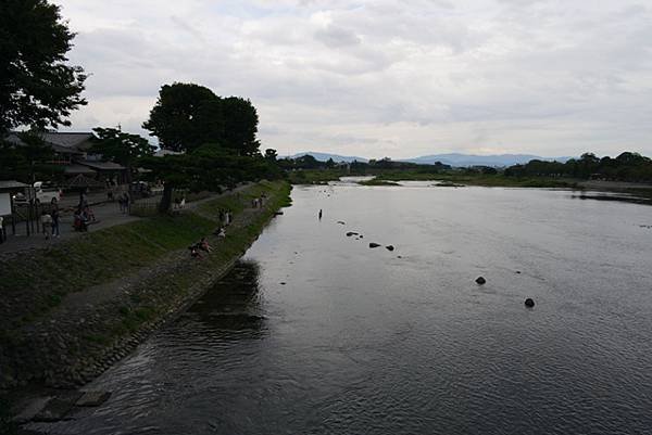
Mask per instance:
[[[159,138],[161,148],[192,152],[205,143],[239,155],[255,155],[259,117],[249,100],[221,98],[195,84],[164,85],[142,127]]]

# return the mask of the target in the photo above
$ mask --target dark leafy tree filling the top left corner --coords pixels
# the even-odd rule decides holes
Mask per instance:
[[[67,65],[74,34],[47,0],[0,1],[0,133],[70,125],[86,75]]]

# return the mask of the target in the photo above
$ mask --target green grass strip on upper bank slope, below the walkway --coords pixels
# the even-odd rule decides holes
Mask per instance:
[[[269,196],[285,189],[289,189],[285,182],[261,182],[238,195],[201,204],[203,216],[190,212],[155,216],[0,263],[0,297],[20,299],[0,305],[0,329],[32,322],[60,305],[68,293],[113,281],[188,246],[215,230],[220,208],[238,214],[263,192]]]

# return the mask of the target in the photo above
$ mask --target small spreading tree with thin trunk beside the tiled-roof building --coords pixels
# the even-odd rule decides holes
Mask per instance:
[[[155,148],[147,139],[123,132],[120,128],[95,128],[93,131],[98,139],[89,151],[124,165],[127,168],[127,182],[130,189],[136,161],[152,155]]]

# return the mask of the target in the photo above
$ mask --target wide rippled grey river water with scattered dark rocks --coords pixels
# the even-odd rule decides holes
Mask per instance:
[[[649,206],[419,184],[293,201],[213,291],[89,386],[109,402],[40,427],[652,433]]]

